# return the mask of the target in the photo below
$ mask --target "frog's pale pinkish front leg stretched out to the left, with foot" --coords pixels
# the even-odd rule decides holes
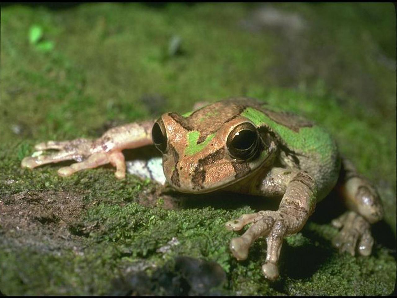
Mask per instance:
[[[125,177],[125,162],[121,151],[152,144],[153,123],[153,121],[134,122],[111,128],[102,137],[95,140],[80,138],[72,141],[40,143],[35,146],[39,152],[33,153],[32,157],[25,157],[21,166],[33,169],[43,164],[73,159],[77,163],[58,170],[60,176],[70,176],[80,170],[111,163],[116,167],[116,177],[122,179]],[[49,149],[55,149],[58,152],[41,155],[40,151]]]

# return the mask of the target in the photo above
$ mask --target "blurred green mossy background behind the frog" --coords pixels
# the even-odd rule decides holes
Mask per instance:
[[[19,162],[38,141],[244,95],[329,130],[376,183],[395,236],[391,3],[3,4],[0,49],[8,179],[25,177]]]

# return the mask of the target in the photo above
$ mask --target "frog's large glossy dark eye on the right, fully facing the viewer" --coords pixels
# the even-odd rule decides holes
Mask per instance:
[[[251,123],[236,126],[226,141],[227,150],[236,159],[250,159],[258,153],[259,136]]]

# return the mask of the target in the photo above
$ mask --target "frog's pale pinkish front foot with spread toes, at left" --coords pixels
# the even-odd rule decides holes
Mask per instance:
[[[21,167],[33,169],[48,163],[59,163],[61,161],[75,160],[77,163],[62,167],[58,170],[60,176],[71,174],[97,166],[112,163],[116,166],[116,177],[125,177],[124,156],[120,151],[104,152],[98,141],[90,139],[75,139],[73,141],[48,141],[37,144],[38,150],[31,157],[25,157]],[[44,150],[58,150],[55,153],[43,155]]]

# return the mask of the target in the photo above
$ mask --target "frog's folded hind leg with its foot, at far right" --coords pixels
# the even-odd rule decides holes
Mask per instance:
[[[383,217],[379,195],[374,186],[358,174],[347,159],[342,160],[338,188],[350,211],[332,221],[333,226],[341,228],[333,238],[332,244],[339,248],[341,253],[346,251],[355,255],[357,250],[360,255],[370,255],[374,244],[370,224],[380,221]]]

